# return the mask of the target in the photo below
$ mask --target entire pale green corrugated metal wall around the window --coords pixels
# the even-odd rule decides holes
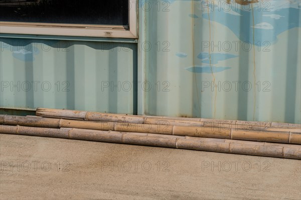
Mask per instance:
[[[242,2],[140,0],[138,43],[6,35],[0,107],[301,123],[301,3]]]

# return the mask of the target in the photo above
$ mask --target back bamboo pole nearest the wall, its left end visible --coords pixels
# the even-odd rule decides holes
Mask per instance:
[[[212,124],[232,124],[240,128],[254,127],[273,128],[274,131],[281,131],[285,128],[301,129],[301,124],[292,123],[277,123],[268,121],[242,121],[242,120],[221,120],[221,119],[207,119],[207,118],[188,118],[188,117],[167,117],[167,116],[142,116],[142,115],[128,115],[128,114],[111,114],[101,112],[68,110],[68,109],[49,109],[37,108],[36,114],[38,116],[52,117],[52,118],[65,118],[65,119],[81,119],[92,121],[113,121],[113,122],[126,122],[126,123],[149,123],[149,124],[169,124],[181,126],[212,126]],[[233,128],[233,126],[231,126]],[[284,130],[285,131],[285,130]]]

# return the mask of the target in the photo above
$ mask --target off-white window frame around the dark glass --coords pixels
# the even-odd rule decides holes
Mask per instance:
[[[129,0],[129,28],[123,25],[0,21],[1,33],[137,38],[138,0]]]

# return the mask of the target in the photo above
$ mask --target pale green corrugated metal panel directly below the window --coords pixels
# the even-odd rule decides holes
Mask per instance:
[[[0,107],[136,112],[135,43],[1,38]]]

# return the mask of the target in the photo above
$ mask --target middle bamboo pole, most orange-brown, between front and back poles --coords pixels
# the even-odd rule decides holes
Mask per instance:
[[[301,144],[301,133],[282,132],[282,131],[252,131],[252,130],[235,130],[220,129],[216,127],[199,127],[199,126],[178,126],[178,125],[157,125],[141,123],[120,123],[105,121],[84,121],[72,119],[55,119],[44,117],[25,117],[3,115],[5,124],[38,126],[48,128],[82,128],[94,130],[115,130],[126,132],[145,132],[157,134],[169,134],[180,136],[195,137],[213,137],[227,139],[241,139],[253,141],[267,141],[279,143]]]

